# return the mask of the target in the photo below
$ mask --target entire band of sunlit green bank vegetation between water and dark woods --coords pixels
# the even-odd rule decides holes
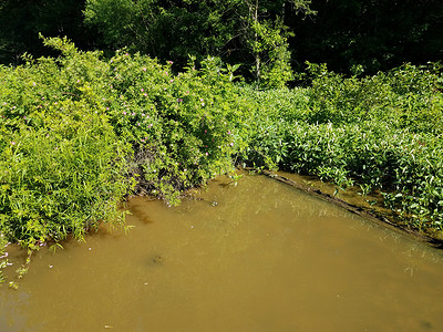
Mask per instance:
[[[258,91],[215,58],[174,73],[124,50],[44,43],[61,56],[0,66],[2,266],[9,242],[32,252],[100,222],[124,227],[127,195],[175,205],[235,165],[380,193],[408,228],[442,234],[437,65],[346,79],[310,64],[308,86]]]

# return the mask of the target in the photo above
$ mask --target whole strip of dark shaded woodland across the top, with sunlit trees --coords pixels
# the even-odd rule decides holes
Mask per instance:
[[[128,46],[177,68],[188,54],[210,54],[240,63],[250,80],[264,74],[261,82],[267,71],[301,71],[306,61],[373,75],[440,61],[442,20],[436,0],[2,0],[0,63],[20,63],[24,52],[53,54],[41,32],[111,55]]]

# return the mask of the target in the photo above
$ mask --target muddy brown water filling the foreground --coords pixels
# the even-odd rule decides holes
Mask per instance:
[[[443,331],[443,256],[262,176],[33,257],[0,331]]]

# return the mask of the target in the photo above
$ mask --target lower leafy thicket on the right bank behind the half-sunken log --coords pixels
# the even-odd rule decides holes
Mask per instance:
[[[317,175],[339,188],[378,190],[404,225],[443,229],[443,77],[437,64],[346,79],[309,64],[311,86],[246,89],[245,164]]]

